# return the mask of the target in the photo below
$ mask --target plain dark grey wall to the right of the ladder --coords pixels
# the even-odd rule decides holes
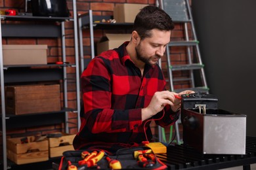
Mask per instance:
[[[210,93],[219,109],[247,115],[256,136],[256,1],[193,0],[194,17]]]

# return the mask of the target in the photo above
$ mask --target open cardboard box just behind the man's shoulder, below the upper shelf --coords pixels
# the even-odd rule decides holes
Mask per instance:
[[[106,50],[111,50],[113,48],[118,48],[123,42],[130,41],[131,34],[111,34],[106,33],[104,37],[98,41],[97,52],[100,54]]]

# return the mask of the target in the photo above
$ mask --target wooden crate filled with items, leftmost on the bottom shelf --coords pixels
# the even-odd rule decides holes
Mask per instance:
[[[21,143],[18,138],[7,139],[7,158],[21,165],[38,161],[49,160],[49,144],[47,139],[35,141],[34,136],[28,137],[28,143]]]

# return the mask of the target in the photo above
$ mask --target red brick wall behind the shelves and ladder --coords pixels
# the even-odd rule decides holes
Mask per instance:
[[[72,0],[67,0],[68,9],[70,9],[70,13],[72,12]],[[77,14],[83,14],[88,12],[89,9],[93,10],[93,14],[95,15],[113,15],[113,9],[117,3],[142,3],[154,5],[154,0],[97,0],[97,1],[86,1],[86,0],[77,0]],[[0,8],[1,10],[5,9],[16,9],[18,12],[24,12],[25,0],[0,0]],[[74,49],[74,31],[73,31],[73,22],[66,22],[66,56],[67,61],[70,63],[75,62],[75,49]],[[182,26],[177,24],[175,26],[175,30],[172,31],[173,39],[182,39]],[[95,30],[95,42],[97,42],[104,33],[118,33],[120,30]],[[125,30],[125,33],[129,33],[131,30]],[[123,31],[121,31],[123,33]],[[3,39],[3,44],[47,44],[49,46],[48,49],[48,61],[55,62],[60,59],[61,56],[61,44],[59,40],[56,39]],[[91,50],[90,50],[90,33],[89,29],[83,30],[83,51],[84,58],[91,58]],[[172,62],[182,63],[186,62],[184,59],[184,48],[177,47],[172,50],[175,54],[173,55]],[[162,59],[162,68],[167,76],[167,66],[166,59]],[[72,79],[71,82],[68,83],[68,107],[76,108],[76,94],[75,94],[75,69],[73,67],[68,67],[68,78]],[[187,76],[186,73],[177,72],[174,76]],[[175,84],[175,86],[179,88],[186,88],[189,86],[188,82]],[[169,84],[167,84],[167,89],[169,89]],[[69,124],[70,133],[77,133],[77,114],[73,112],[68,113],[69,122],[74,124]],[[169,127],[168,127],[169,128]],[[152,124],[152,130],[155,135],[158,133],[158,129]],[[64,124],[58,124],[53,126],[39,126],[33,128],[26,129],[15,129],[11,131],[7,131],[8,137],[15,136],[23,136],[34,133],[51,133],[54,131],[64,131]]]

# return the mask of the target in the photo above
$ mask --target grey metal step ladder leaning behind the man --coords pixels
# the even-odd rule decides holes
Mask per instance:
[[[188,0],[156,0],[156,5],[165,10],[169,16],[171,16],[173,22],[176,25],[181,25],[184,37],[181,39],[171,37],[171,42],[169,42],[166,48],[167,57],[167,72],[169,88],[173,92],[182,92],[183,90],[194,90],[195,92],[209,93],[209,88],[207,87],[207,82],[204,73],[204,65],[202,63],[199,41],[196,37],[196,31],[194,27],[194,21],[192,19],[192,12],[190,9],[190,4]],[[183,47],[185,49],[184,61],[177,62],[173,61],[172,56],[175,56],[175,52],[172,52],[172,48]],[[173,74],[176,72],[176,75]],[[185,74],[184,74],[185,73]],[[184,74],[184,76],[182,76]],[[177,76],[179,75],[179,76]],[[175,88],[176,84],[182,84],[186,82],[189,84],[188,88],[182,88],[181,86]],[[175,135],[177,138],[177,143],[180,144],[179,135],[179,124],[181,119],[175,122]],[[165,141],[165,130],[160,127],[159,129],[159,140],[161,142]],[[172,131],[170,130],[170,136]],[[170,140],[171,138],[169,138]],[[170,142],[170,141],[169,141]],[[168,143],[169,143],[168,142]]]

